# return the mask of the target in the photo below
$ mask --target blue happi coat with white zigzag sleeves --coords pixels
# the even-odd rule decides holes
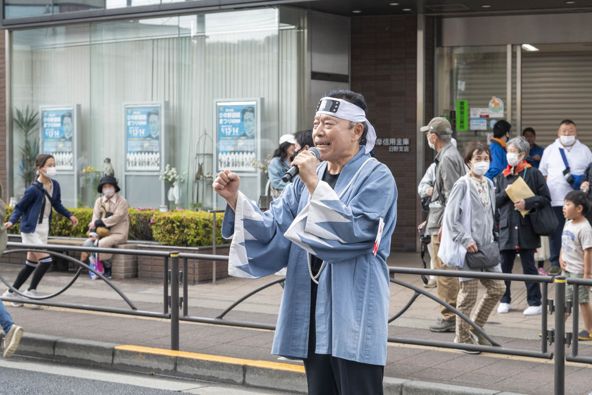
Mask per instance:
[[[326,162],[317,166],[319,179],[326,169]],[[375,256],[381,219],[384,230]],[[386,259],[396,219],[391,171],[363,150],[343,167],[335,190],[319,181],[310,196],[297,177],[265,213],[239,192],[236,213],[226,207],[222,225],[222,235],[233,237],[229,273],[258,278],[288,265],[272,354],[307,357],[312,253],[327,262],[317,292],[316,353],[385,364]]]

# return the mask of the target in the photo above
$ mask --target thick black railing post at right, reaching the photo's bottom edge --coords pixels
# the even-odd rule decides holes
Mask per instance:
[[[555,395],[565,394],[565,277],[555,277]]]

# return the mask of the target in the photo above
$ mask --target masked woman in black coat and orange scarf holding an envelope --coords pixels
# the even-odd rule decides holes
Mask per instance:
[[[516,254],[524,274],[538,275],[535,265],[535,249],[540,248],[540,236],[535,235],[528,215],[519,210],[533,210],[551,203],[551,194],[540,171],[526,162],[530,144],[524,137],[511,139],[507,144],[508,167],[497,176],[496,202],[500,208],[500,251],[501,269],[511,273]],[[518,178],[523,178],[535,196],[514,203],[508,197],[506,188]],[[526,300],[528,307],[523,311],[526,316],[542,313],[540,286],[538,282],[526,282]],[[510,281],[506,281],[506,293],[501,298],[498,313],[510,310]]]

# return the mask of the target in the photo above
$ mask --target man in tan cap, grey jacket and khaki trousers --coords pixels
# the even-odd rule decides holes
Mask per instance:
[[[427,143],[430,148],[436,150],[436,179],[430,200],[430,212],[426,221],[426,234],[432,236],[432,250],[434,269],[451,270],[440,258],[438,258],[438,249],[440,248],[440,237],[442,236],[442,217],[446,208],[446,201],[452,185],[466,174],[465,165],[461,155],[454,144],[452,144],[452,127],[450,122],[443,117],[432,118],[427,126],[422,127],[421,131],[426,132]],[[456,296],[458,296],[458,278],[456,277],[436,277],[436,287],[438,297],[456,307]],[[430,326],[432,332],[454,332],[456,327],[456,315],[448,307],[440,305],[442,317],[437,319],[436,323]]]

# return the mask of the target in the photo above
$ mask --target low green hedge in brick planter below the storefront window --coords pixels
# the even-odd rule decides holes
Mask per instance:
[[[12,207],[6,207],[6,220],[12,214]],[[78,219],[73,228],[70,220],[53,211],[49,234],[52,236],[86,237],[88,224],[92,219],[92,208],[68,208]],[[177,209],[161,213],[150,208],[130,208],[129,240],[156,241],[169,246],[208,246],[212,244],[212,214],[205,211]],[[216,215],[216,243],[225,243],[220,233],[224,214]],[[18,223],[8,233],[20,234]]]

